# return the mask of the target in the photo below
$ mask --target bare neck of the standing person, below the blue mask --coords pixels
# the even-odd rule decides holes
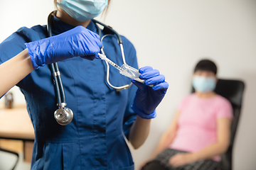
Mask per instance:
[[[89,25],[90,20],[80,22],[72,18],[68,13],[66,13],[62,8],[59,8],[56,17],[60,20],[63,21],[64,23],[68,23],[70,26],[84,26],[85,28]]]

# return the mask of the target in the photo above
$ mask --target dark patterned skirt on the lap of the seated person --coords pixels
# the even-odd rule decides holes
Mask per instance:
[[[169,159],[174,154],[186,153],[175,149],[165,149],[163,152],[158,154],[154,160],[146,163],[142,170],[220,170],[220,163],[215,162],[212,159],[202,160],[186,164],[183,166],[173,167],[169,164]]]

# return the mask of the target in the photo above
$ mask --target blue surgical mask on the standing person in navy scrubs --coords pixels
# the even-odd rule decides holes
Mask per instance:
[[[107,7],[107,0],[62,0],[57,4],[72,18],[84,22],[99,16]]]

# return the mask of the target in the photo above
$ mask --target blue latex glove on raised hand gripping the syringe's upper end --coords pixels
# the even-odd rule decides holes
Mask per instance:
[[[99,35],[82,26],[50,38],[28,42],[25,45],[31,57],[33,69],[78,56],[94,60],[102,47]]]

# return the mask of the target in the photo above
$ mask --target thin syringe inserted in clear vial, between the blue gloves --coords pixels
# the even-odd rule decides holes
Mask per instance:
[[[140,73],[138,69],[130,67],[128,64],[122,64],[122,67],[119,67],[117,64],[108,59],[106,55],[102,55],[100,53],[98,55],[102,60],[105,60],[106,62],[110,63],[114,68],[118,69],[120,74],[124,75],[125,77],[129,77],[131,79],[135,79],[136,81],[144,83],[145,80],[139,79]]]

